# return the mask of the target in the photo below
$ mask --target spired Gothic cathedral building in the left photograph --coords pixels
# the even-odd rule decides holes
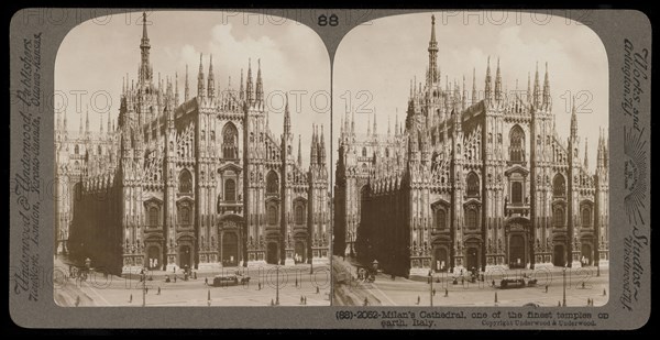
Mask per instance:
[[[234,266],[327,261],[328,168],[322,128],[310,164],[297,157],[288,102],[284,132],[268,127],[261,65],[249,64],[240,89],[217,90],[212,57],[200,56],[197,96],[186,69],[154,79],[143,24],[138,79],[123,83],[117,127],[79,131],[57,117],[55,131],[58,252],[96,267]],[[174,81],[173,81],[174,80]],[[85,127],[85,128],[82,128]]]

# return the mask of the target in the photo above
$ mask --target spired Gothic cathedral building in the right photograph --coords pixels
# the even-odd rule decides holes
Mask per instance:
[[[595,173],[581,156],[576,112],[556,131],[546,66],[507,96],[499,63],[480,95],[441,83],[435,18],[424,84],[405,123],[366,134],[342,119],[334,186],[334,253],[399,275],[608,261],[608,146]],[[481,98],[480,98],[481,97]],[[586,140],[584,140],[586,150]]]

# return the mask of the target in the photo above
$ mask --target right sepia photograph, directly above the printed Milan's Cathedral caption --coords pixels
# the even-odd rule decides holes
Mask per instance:
[[[332,86],[333,305],[607,303],[608,62],[587,25],[377,19]]]

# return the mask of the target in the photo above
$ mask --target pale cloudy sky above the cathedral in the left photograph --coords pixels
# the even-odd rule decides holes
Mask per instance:
[[[213,74],[222,89],[230,76],[232,87],[239,88],[241,68],[246,76],[249,58],[256,80],[261,59],[271,131],[276,136],[282,133],[284,94],[288,92],[296,143],[301,134],[304,165],[309,164],[312,123],[323,124],[330,151],[330,58],[312,30],[277,17],[235,12],[147,14],[154,78],[161,73],[163,79],[174,79],[177,73],[182,101],[186,65],[190,96],[197,94],[200,53],[205,76],[209,56],[213,55]],[[67,113],[69,130],[78,130],[80,114],[87,109],[92,131],[99,130],[101,119],[103,129],[108,116],[117,119],[122,78],[127,74],[131,79],[138,78],[141,37],[142,13],[132,12],[86,21],[64,39],[55,62],[55,106],[56,112]],[[297,145],[294,152],[297,153]]]

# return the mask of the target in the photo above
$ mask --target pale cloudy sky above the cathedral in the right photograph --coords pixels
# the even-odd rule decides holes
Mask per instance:
[[[387,17],[360,25],[344,36],[334,56],[333,127],[339,127],[348,98],[358,113],[358,132],[366,133],[370,117],[373,121],[369,112],[374,109],[380,133],[387,132],[388,117],[394,129],[397,110],[399,122],[404,121],[410,79],[417,76],[418,83],[425,81],[433,13],[443,84],[449,76],[450,83],[455,79],[461,85],[465,76],[471,90],[475,69],[477,91],[483,91],[490,56],[493,78],[499,58],[503,87],[515,90],[518,80],[518,88],[525,90],[528,73],[534,87],[537,62],[542,86],[548,63],[558,133],[564,140],[569,136],[572,105],[569,100],[576,96],[581,157],[584,139],[588,139],[588,166],[591,172],[595,169],[598,128],[608,127],[607,56],[591,29],[560,17],[427,12]],[[364,95],[365,91],[370,95]]]

